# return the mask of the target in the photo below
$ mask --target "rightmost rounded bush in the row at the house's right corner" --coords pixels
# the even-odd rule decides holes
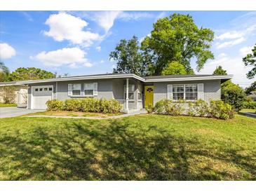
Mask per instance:
[[[221,119],[234,118],[234,111],[230,104],[223,101],[210,101],[210,116]]]

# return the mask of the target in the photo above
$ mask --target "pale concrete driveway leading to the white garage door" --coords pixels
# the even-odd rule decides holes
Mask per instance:
[[[0,107],[0,118],[22,116],[26,114],[36,113],[39,109],[26,109],[26,108],[17,108],[17,107]]]

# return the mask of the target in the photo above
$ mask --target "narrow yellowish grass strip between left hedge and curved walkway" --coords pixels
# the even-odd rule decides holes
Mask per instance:
[[[122,113],[116,114],[102,114],[92,112],[80,112],[80,111],[41,111],[33,114],[27,114],[25,116],[77,116],[77,117],[109,117],[109,116],[120,116]]]

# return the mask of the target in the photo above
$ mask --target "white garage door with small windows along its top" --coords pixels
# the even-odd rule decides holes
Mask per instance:
[[[32,109],[46,109],[46,102],[53,99],[53,86],[32,87]]]

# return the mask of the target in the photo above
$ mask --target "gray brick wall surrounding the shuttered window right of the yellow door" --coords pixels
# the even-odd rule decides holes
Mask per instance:
[[[167,85],[193,83],[203,83],[203,99],[207,102],[210,102],[210,100],[220,100],[220,80],[175,81],[154,83],[154,104],[156,104],[156,102],[158,102],[159,100],[167,98]]]

